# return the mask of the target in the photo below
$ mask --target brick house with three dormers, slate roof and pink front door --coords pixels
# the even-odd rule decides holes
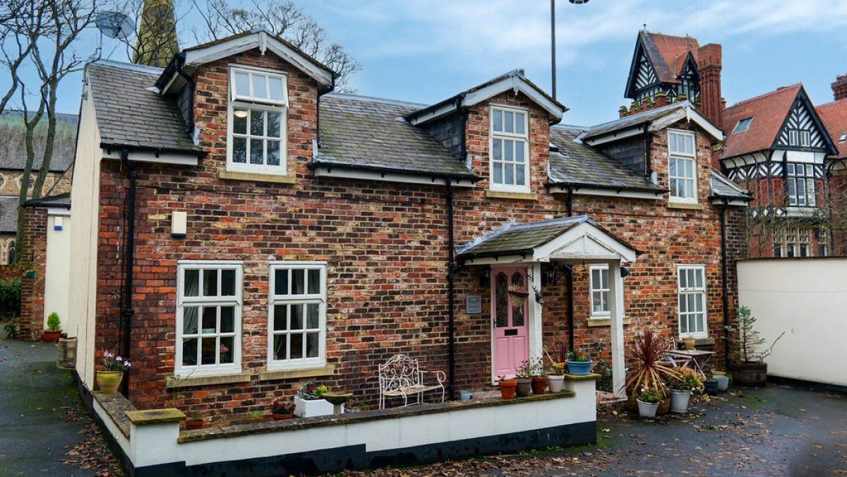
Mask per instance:
[[[692,103],[562,126],[520,70],[433,105],[338,94],[264,31],[85,85],[69,334],[90,390],[115,350],[138,408],[221,424],[307,379],[376,402],[396,352],[479,390],[564,342],[620,392],[647,327],[722,367],[749,197]]]

